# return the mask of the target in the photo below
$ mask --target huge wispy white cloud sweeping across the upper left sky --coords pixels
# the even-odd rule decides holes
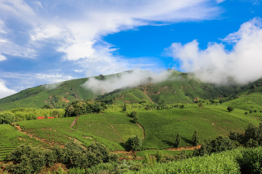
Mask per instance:
[[[115,56],[117,48],[103,42],[103,37],[139,26],[214,19],[220,13],[213,0],[0,0],[0,61],[11,56],[40,59],[45,47],[51,45],[60,59],[76,66],[72,72],[81,69],[86,76],[118,73],[135,66],[154,68],[149,61],[136,63],[140,58]],[[66,71],[54,76],[13,73],[17,75],[14,79],[21,78],[14,80],[19,87],[13,87],[18,91],[38,84],[37,79],[42,83],[49,83],[45,78],[53,82],[70,79]]]

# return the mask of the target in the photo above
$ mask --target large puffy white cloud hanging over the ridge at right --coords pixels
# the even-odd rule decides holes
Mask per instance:
[[[200,50],[194,40],[184,45],[172,43],[166,51],[180,60],[182,70],[194,72],[204,81],[221,84],[233,77],[244,84],[262,77],[261,18],[242,24],[222,41],[234,43],[232,50],[222,43],[209,43],[207,49]]]

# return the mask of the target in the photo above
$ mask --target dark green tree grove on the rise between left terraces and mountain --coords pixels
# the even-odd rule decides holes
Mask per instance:
[[[65,117],[80,116],[85,114],[100,113],[106,108],[101,102],[86,100],[84,102],[74,101],[65,109]]]

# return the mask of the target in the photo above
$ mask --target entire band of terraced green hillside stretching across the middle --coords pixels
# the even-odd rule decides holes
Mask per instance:
[[[21,132],[10,125],[0,125],[1,139],[5,140],[0,141],[0,159],[3,160],[8,152],[21,144],[32,144],[42,149],[63,146],[69,139],[76,139],[85,147],[97,141],[111,151],[126,150],[124,143],[131,135],[145,136],[142,149],[167,149],[174,147],[178,132],[180,146],[186,146],[192,145],[194,131],[198,132],[201,143],[218,135],[228,136],[230,131],[244,132],[248,123],[258,125],[262,121],[262,113],[259,113],[261,116],[244,115],[245,111],[241,109],[229,113],[226,108],[210,105],[199,109],[192,105],[184,109],[138,111],[141,127],[120,111],[83,115],[73,125],[75,117],[16,122]],[[14,141],[17,143],[14,144]]]

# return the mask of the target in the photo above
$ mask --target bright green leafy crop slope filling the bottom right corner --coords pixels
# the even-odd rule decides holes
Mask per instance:
[[[128,174],[260,174],[262,147],[238,148],[187,160],[158,163]]]

